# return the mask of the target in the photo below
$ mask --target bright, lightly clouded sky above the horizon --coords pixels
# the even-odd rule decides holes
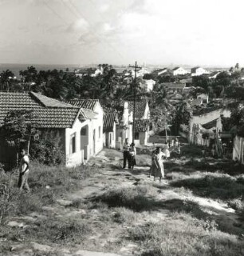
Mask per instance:
[[[0,0],[0,63],[244,66],[243,0]]]

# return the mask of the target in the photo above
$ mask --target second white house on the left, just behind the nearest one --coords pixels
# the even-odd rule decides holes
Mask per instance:
[[[100,102],[96,99],[74,99],[67,101],[67,103],[85,110],[85,115],[91,118],[91,126],[87,126],[88,130],[83,130],[82,136],[86,136],[85,134],[92,136],[92,145],[89,143],[89,147],[85,147],[85,150],[87,150],[88,156],[96,155],[103,149],[104,111]]]

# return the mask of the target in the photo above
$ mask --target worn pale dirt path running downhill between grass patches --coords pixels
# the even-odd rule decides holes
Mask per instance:
[[[89,165],[96,165],[97,172],[82,182],[83,188],[73,194],[66,194],[59,198],[53,206],[43,207],[43,212],[33,213],[30,216],[16,217],[9,220],[9,225],[14,228],[23,229],[41,218],[60,218],[61,221],[70,218],[84,218],[92,226],[92,234],[86,237],[81,245],[43,245],[37,242],[14,242],[11,245],[11,255],[84,255],[84,256],[118,256],[140,254],[140,246],[130,242],[121,236],[123,230],[128,229],[123,223],[118,229],[117,225],[111,225],[104,229],[104,212],[100,208],[85,207],[93,198],[99,197],[105,191],[117,187],[132,188],[135,186],[151,186],[154,193],[154,200],[166,207],[158,210],[138,213],[138,218],[132,225],[142,225],[147,222],[163,222],[169,218],[171,210],[181,206],[179,202],[194,202],[203,213],[214,216],[216,220],[228,223],[233,234],[242,234],[242,227],[238,226],[238,218],[234,210],[222,202],[208,198],[201,198],[192,194],[186,194],[169,186],[167,180],[159,183],[148,178],[149,167],[138,166],[135,170],[122,170],[120,163],[122,155],[113,151],[104,150],[97,158],[93,158]],[[114,151],[115,152],[115,151]],[[73,206],[76,202],[77,206]],[[111,213],[111,216],[114,213]],[[109,218],[112,218],[109,216]],[[28,223],[28,224],[26,224]],[[100,251],[96,252],[94,250]],[[112,253],[111,253],[112,252]],[[4,254],[8,255],[8,254]]]

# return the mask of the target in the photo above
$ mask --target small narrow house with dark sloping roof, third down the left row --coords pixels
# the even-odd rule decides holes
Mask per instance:
[[[118,125],[118,117],[116,113],[104,113],[104,146],[108,148],[116,148],[116,125]]]

